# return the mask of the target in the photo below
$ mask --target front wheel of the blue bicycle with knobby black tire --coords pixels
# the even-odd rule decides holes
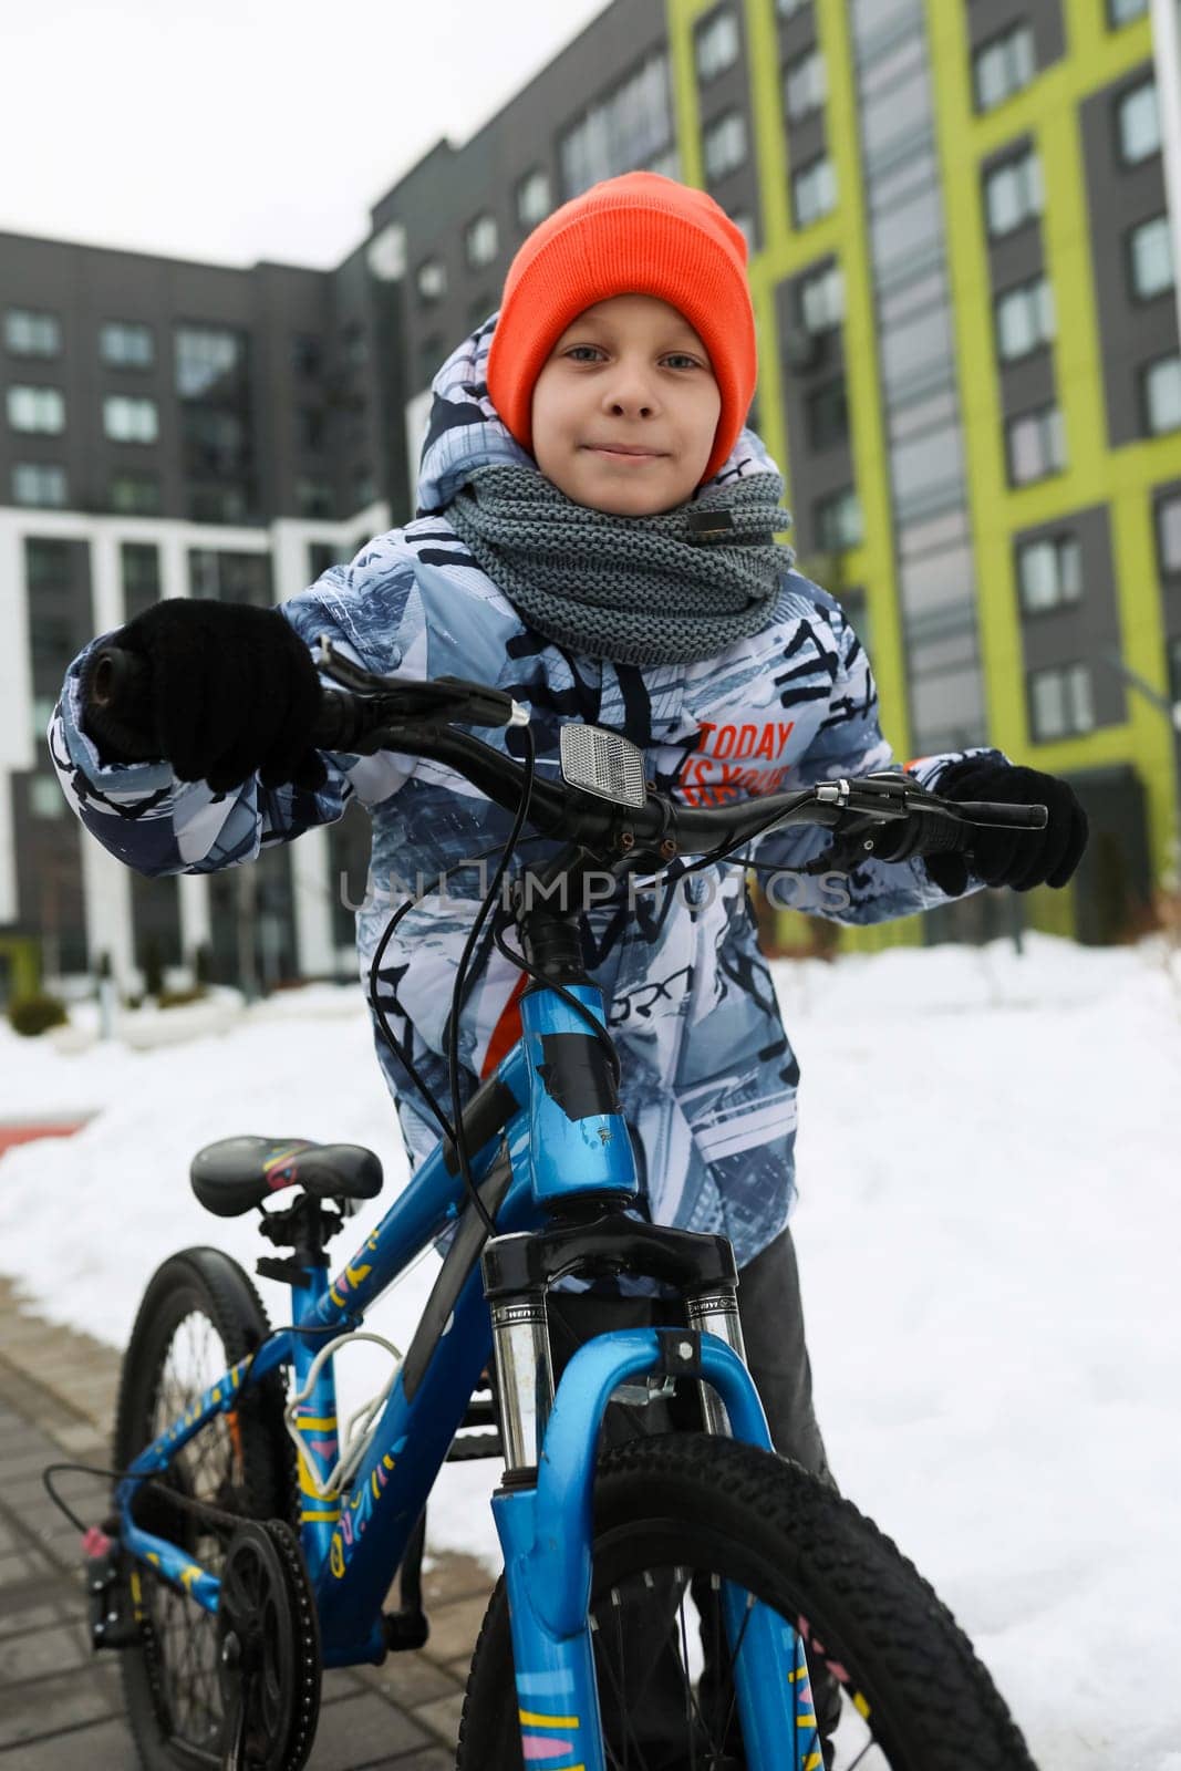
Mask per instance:
[[[793,1463],[683,1433],[614,1447],[595,1488],[591,1633],[609,1771],[772,1771],[744,1750],[721,1582],[804,1636],[827,1767],[1034,1771],[970,1642],[869,1520]],[[501,1580],[457,1771],[522,1764]],[[774,1767],[795,1764],[784,1741]]]

